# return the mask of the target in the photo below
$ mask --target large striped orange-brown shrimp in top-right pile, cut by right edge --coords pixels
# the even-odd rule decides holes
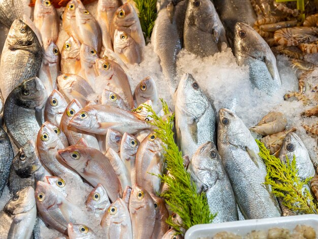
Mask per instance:
[[[274,33],[274,39],[284,46],[297,46],[300,42],[311,42],[317,39],[318,27],[294,26],[282,28]]]

